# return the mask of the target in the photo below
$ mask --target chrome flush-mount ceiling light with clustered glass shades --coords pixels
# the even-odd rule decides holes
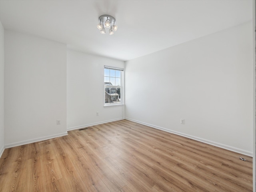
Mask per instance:
[[[108,30],[109,34],[112,35],[117,30],[116,19],[110,15],[102,15],[99,17],[99,24],[97,25],[101,34],[106,34],[106,28],[110,28]]]

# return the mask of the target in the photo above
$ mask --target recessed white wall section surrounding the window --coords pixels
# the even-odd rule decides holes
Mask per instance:
[[[104,108],[104,65],[124,68],[123,61],[67,51],[68,130],[124,118],[124,106]]]

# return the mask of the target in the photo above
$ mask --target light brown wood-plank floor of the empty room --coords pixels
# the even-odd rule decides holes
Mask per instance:
[[[252,158],[120,120],[5,149],[0,192],[12,191],[251,192]]]

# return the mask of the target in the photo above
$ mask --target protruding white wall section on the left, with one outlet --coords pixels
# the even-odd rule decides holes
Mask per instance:
[[[66,45],[8,30],[4,35],[6,148],[67,134]]]

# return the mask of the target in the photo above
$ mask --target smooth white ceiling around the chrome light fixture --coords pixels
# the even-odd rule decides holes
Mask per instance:
[[[102,14],[116,18],[112,36],[96,27]],[[126,61],[250,21],[252,0],[0,0],[0,20],[6,30]]]

